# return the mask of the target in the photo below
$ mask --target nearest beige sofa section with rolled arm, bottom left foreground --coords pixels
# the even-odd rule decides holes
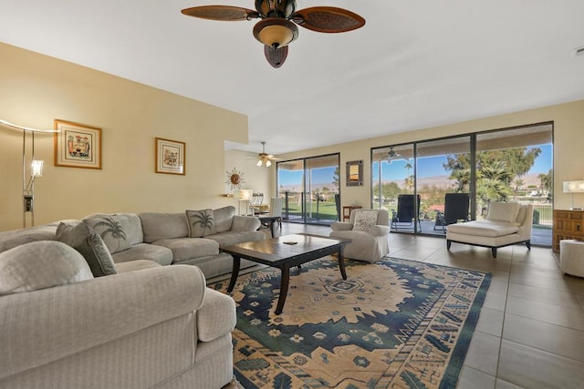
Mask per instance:
[[[0,252],[0,387],[230,384],[233,299],[195,266],[125,263],[132,271],[94,278],[62,242]]]

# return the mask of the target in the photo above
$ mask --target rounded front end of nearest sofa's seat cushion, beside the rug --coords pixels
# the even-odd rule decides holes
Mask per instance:
[[[231,333],[235,329],[237,317],[234,299],[207,288],[203,306],[197,311],[197,338],[200,342],[211,342]]]

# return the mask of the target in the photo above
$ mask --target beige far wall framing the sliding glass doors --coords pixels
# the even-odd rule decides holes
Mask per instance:
[[[387,137],[341,143],[325,148],[310,148],[286,155],[278,155],[278,157],[296,159],[339,152],[341,166],[340,194],[343,205],[348,205],[355,201],[361,206],[369,207],[371,183],[370,148],[546,121],[554,122],[554,208],[568,209],[569,195],[562,193],[562,181],[584,179],[584,100],[492,118],[480,118],[447,126],[424,128],[388,135]],[[358,131],[359,128],[355,128],[355,130]],[[356,159],[364,160],[364,186],[347,187],[345,184],[345,164],[349,160]],[[276,187],[275,182],[272,183],[272,187]],[[584,207],[584,194],[574,195],[574,205],[576,207]]]

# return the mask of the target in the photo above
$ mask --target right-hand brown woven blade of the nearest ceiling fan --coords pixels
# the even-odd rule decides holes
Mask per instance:
[[[295,12],[290,19],[319,33],[343,33],[365,26],[365,19],[347,9],[335,6],[313,6]]]

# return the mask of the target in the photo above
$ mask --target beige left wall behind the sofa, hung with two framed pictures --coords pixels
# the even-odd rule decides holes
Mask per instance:
[[[224,141],[247,143],[247,118],[0,43],[0,118],[31,128],[53,120],[102,128],[103,169],[53,166],[52,135],[36,136],[36,224],[91,212],[183,211],[232,205]],[[186,175],[154,172],[154,138],[186,142]],[[22,133],[0,125],[0,230],[20,228]],[[231,167],[229,167],[231,169]]]

